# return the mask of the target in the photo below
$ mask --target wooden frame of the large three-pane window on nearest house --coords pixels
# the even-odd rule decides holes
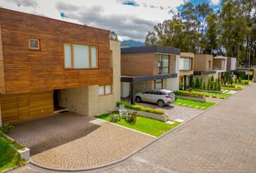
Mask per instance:
[[[71,49],[72,49],[72,66],[69,68],[65,67],[65,45],[71,45]],[[99,68],[99,53],[98,53],[98,45],[85,45],[89,47],[89,68],[74,68],[74,45],[85,45],[85,44],[80,44],[80,43],[64,43],[63,44],[63,50],[64,50],[64,69],[72,69],[72,70],[90,70],[90,69],[98,69]],[[96,62],[97,62],[97,66],[96,67],[92,67],[92,48],[96,48]]]

